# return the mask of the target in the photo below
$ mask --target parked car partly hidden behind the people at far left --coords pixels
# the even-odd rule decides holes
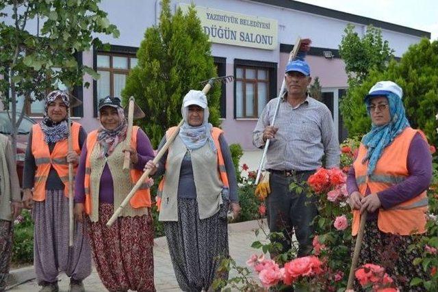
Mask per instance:
[[[17,114],[18,116],[18,114]],[[29,133],[32,125],[36,124],[31,118],[24,116],[18,127],[16,135],[16,172],[18,172],[18,179],[20,180],[20,187],[23,181],[23,167],[25,161],[26,147],[29,140]],[[7,111],[0,111],[0,133],[10,136],[12,133],[12,124],[8,117]]]

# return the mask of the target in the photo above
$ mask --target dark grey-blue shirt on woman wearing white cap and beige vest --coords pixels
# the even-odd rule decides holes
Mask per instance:
[[[163,137],[162,141],[159,143],[158,150],[161,149],[166,143],[166,136]],[[233,160],[231,159],[231,152],[225,140],[224,135],[219,136],[220,149],[222,150],[222,157],[224,159],[225,170],[227,171],[227,177],[229,182],[229,195],[231,202],[238,202],[237,198],[237,178],[235,176],[235,168]],[[161,176],[166,171],[166,159],[168,152],[164,153],[162,158],[159,160],[158,169],[154,177]],[[194,185],[193,178],[193,168],[192,161],[190,160],[190,155],[186,153],[183,161],[181,162],[181,170],[179,172],[179,182],[178,182],[178,198],[196,198],[196,187]]]

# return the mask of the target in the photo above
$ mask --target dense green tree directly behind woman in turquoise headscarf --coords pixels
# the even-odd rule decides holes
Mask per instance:
[[[350,136],[362,135],[370,129],[370,118],[363,97],[378,81],[390,80],[403,89],[403,103],[411,127],[426,133],[430,144],[438,144],[435,114],[438,112],[438,40],[424,38],[413,44],[399,62],[392,60],[383,70],[370,70],[361,85],[349,89],[348,110],[344,121]]]

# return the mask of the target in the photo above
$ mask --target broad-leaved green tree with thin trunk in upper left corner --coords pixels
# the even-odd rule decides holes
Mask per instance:
[[[100,0],[3,0],[0,1],[0,98],[9,109],[12,143],[24,115],[16,113],[18,97],[25,103],[41,100],[47,90],[63,83],[83,84],[83,75],[99,75],[79,65],[75,54],[103,47],[93,34],[112,34],[115,25],[98,6]],[[34,21],[37,27],[29,27]],[[85,84],[88,87],[89,84]]]

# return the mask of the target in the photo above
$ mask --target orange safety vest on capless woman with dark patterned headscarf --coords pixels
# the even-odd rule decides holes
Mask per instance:
[[[81,154],[79,148],[79,129],[81,125],[73,122],[71,125],[71,135],[73,139],[73,151],[77,155]],[[42,132],[40,124],[32,126],[32,154],[35,157],[36,173],[34,178],[34,200],[42,202],[46,199],[46,183],[51,167],[56,170],[64,183],[64,195],[68,198],[68,140],[64,139],[56,142],[55,148],[50,152],[49,145],[44,140],[44,132]],[[77,166],[74,168],[76,173]]]

